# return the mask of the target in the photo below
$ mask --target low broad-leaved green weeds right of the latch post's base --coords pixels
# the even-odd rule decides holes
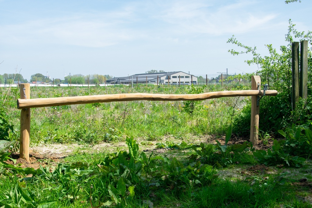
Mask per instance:
[[[272,150],[256,150],[253,155],[257,160],[265,165],[277,165],[284,164],[293,167],[301,167],[304,165],[305,158],[298,156],[290,156],[288,153],[284,152],[281,145],[284,145],[285,141],[276,139],[273,142]]]

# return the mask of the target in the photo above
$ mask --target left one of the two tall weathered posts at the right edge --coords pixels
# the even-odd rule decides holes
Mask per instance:
[[[293,42],[291,48],[292,54],[292,108],[296,108],[296,102],[299,100],[299,42]]]

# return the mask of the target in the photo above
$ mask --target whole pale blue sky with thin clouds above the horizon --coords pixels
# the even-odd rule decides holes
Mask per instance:
[[[311,0],[0,0],[0,74],[251,73],[251,54],[231,55],[241,49],[227,40],[266,56],[266,44],[287,45],[289,19],[312,30],[311,10]]]

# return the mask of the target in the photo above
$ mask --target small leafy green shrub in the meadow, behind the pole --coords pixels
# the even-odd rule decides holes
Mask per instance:
[[[202,87],[195,87],[193,84],[188,86],[185,89],[185,93],[186,94],[200,94],[204,92],[206,85],[202,86]],[[202,105],[201,105],[202,101],[197,100],[197,101],[184,101],[183,102],[183,111],[187,112],[189,114],[197,114],[201,109],[202,109]]]

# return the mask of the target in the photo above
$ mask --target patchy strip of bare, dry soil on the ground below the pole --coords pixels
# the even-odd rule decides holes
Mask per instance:
[[[200,144],[200,143],[214,143],[218,140],[221,144],[225,143],[225,136],[221,138],[216,138],[214,135],[204,135],[201,137],[190,136],[187,139],[175,138],[173,136],[164,136],[161,140],[148,141],[145,138],[136,139],[139,144],[140,150],[144,152],[153,151],[155,154],[166,154],[171,151],[167,148],[156,148],[156,143],[165,143],[166,141],[181,143],[182,141],[190,144]],[[241,144],[249,141],[248,138],[237,138],[233,137],[229,140],[228,144]],[[268,145],[263,145],[261,140],[256,149],[267,149],[272,146],[273,142],[269,141]],[[62,162],[62,160],[70,154],[76,152],[118,152],[120,150],[127,150],[127,145],[125,142],[115,142],[115,143],[100,143],[95,145],[79,145],[79,144],[44,144],[40,146],[34,146],[30,148],[29,162],[19,158],[18,152],[12,152],[11,157],[16,159],[16,164],[20,167],[32,167],[34,169],[39,168],[39,166],[45,167],[56,166],[57,163]],[[7,163],[14,164],[12,160],[8,160]]]

